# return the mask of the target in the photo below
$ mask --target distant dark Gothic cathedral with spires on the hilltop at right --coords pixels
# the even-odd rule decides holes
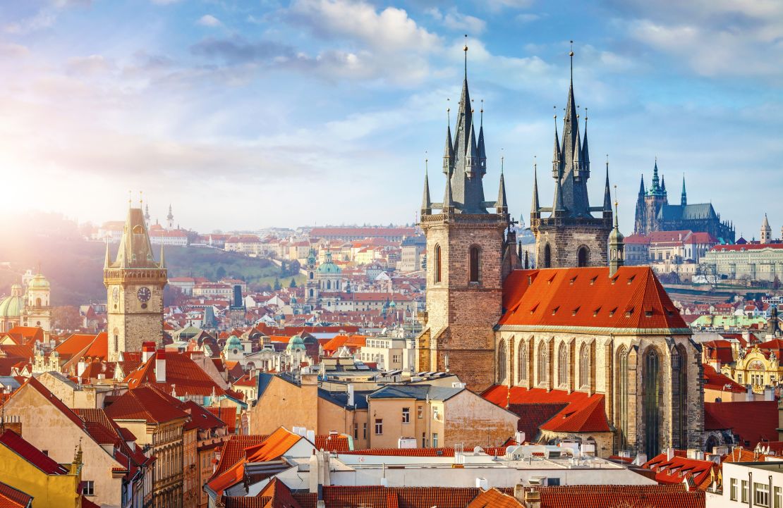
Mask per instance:
[[[669,205],[666,181],[663,177],[659,178],[658,159],[655,159],[652,184],[649,189],[644,188],[644,175],[641,177],[633,232],[649,234],[651,231],[681,230],[709,233],[720,243],[734,243],[734,226],[720,220],[720,214],[715,212],[712,203],[688,204],[685,177],[683,177],[680,204]]]

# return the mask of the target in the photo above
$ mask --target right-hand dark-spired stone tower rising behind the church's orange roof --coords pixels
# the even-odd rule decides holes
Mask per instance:
[[[603,206],[590,206],[587,180],[590,178],[590,151],[587,145],[587,118],[584,141],[579,134],[573,80],[563,119],[562,143],[554,126],[552,177],[554,199],[551,208],[538,203],[537,185],[533,190],[530,229],[536,235],[536,263],[539,268],[605,267],[608,263],[607,240],[612,231],[612,204],[609,195],[608,167]],[[600,212],[601,217],[594,217]],[[549,216],[545,216],[546,214]]]

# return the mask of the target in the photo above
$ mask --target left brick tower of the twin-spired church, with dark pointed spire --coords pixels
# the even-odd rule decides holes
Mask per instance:
[[[467,45],[464,51],[467,63]],[[430,201],[424,178],[427,311],[416,368],[449,370],[481,390],[495,378],[493,327],[501,315],[503,274],[518,267],[518,258],[513,235],[504,234],[509,216],[502,177],[498,200],[484,198],[484,127],[479,123],[477,136],[473,115],[466,65],[454,137],[450,126],[446,130],[443,202]]]

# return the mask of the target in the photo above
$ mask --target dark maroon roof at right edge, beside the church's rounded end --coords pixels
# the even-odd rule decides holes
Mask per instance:
[[[704,430],[723,429],[731,429],[746,448],[763,441],[778,441],[778,402],[705,402]]]

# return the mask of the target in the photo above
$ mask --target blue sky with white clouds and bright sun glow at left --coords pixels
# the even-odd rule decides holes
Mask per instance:
[[[0,2],[2,208],[99,224],[143,191],[204,232],[412,223],[425,159],[434,201],[445,185],[465,34],[488,200],[502,154],[511,212],[534,160],[550,205],[572,40],[594,205],[608,155],[630,233],[657,157],[669,202],[684,175],[738,234],[767,213],[778,236],[778,0]]]

